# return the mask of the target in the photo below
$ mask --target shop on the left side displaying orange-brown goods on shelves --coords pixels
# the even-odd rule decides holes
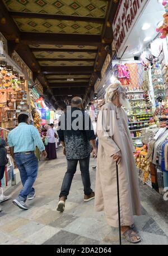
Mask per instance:
[[[0,53],[0,136],[7,140],[8,132],[15,128],[18,115],[29,114],[29,93],[25,74],[7,55],[7,43],[1,35]],[[0,186],[5,190],[20,181],[18,169],[7,149],[8,164]],[[1,197],[3,197],[1,195]]]

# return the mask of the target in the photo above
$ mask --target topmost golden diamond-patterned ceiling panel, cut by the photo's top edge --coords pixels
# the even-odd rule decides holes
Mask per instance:
[[[36,14],[105,17],[107,1],[100,0],[3,0],[9,11]]]

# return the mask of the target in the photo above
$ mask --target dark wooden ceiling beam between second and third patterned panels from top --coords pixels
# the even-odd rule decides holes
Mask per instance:
[[[74,46],[100,46],[100,35],[21,32],[25,44],[53,44]]]

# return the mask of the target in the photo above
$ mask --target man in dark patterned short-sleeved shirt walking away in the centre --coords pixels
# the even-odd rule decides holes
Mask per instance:
[[[84,201],[87,202],[95,198],[95,193],[91,189],[89,173],[91,146],[94,156],[97,156],[95,133],[90,117],[81,109],[82,99],[80,97],[72,98],[72,107],[67,107],[66,113],[61,116],[59,122],[58,135],[63,146],[63,153],[67,158],[67,172],[59,195],[58,212],[64,211],[78,161],[84,187]]]

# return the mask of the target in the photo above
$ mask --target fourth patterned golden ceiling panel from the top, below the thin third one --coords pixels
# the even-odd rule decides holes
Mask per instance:
[[[96,53],[88,52],[34,52],[34,55],[37,59],[94,59],[96,57]]]

